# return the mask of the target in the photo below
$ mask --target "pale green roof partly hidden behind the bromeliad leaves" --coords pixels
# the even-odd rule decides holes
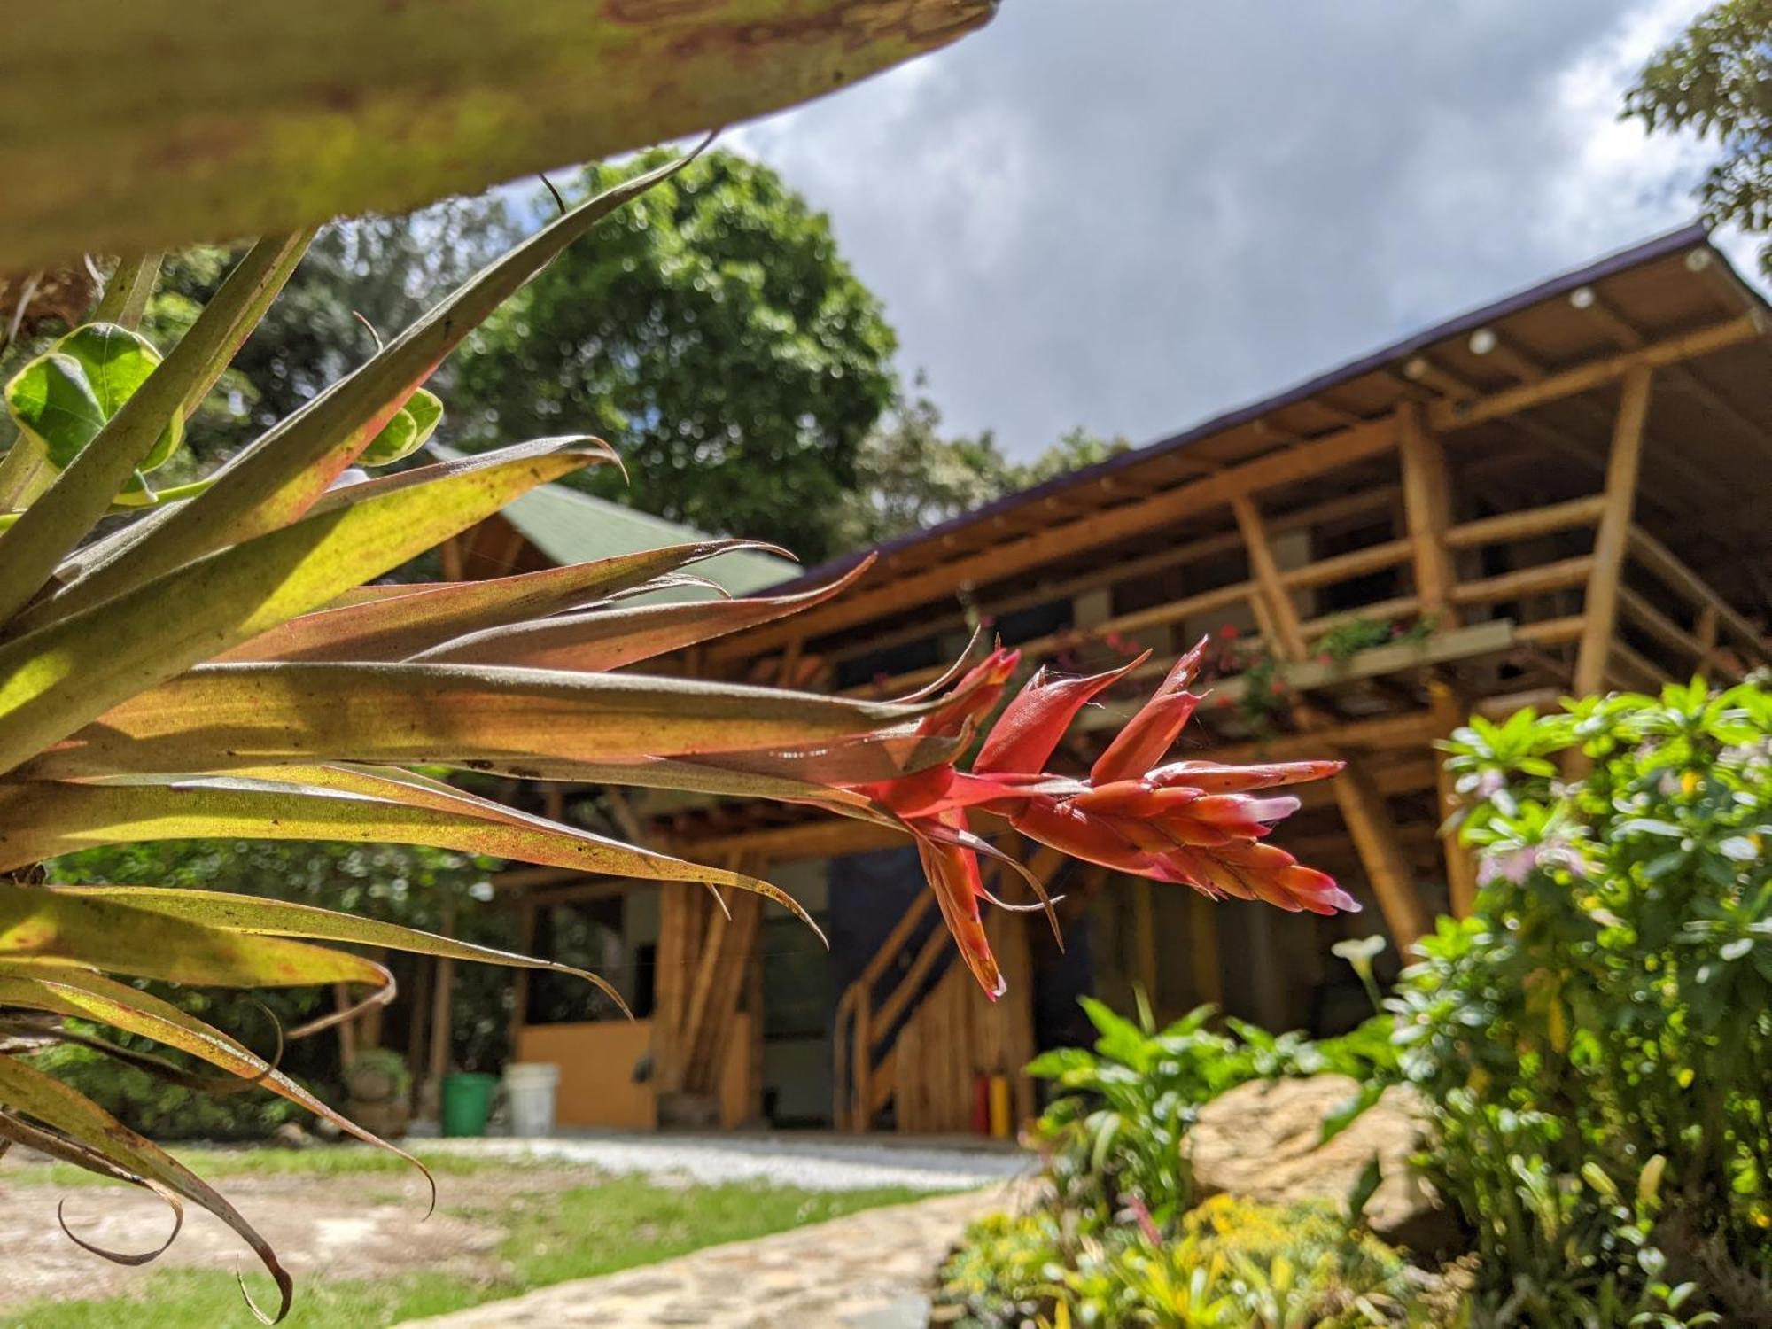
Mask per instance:
[[[544,484],[503,509],[505,519],[523,537],[556,563],[587,563],[594,558],[659,549],[666,544],[705,540],[707,533],[675,521],[636,512],[604,498],[581,494],[558,484]],[[734,595],[748,595],[764,587],[778,587],[799,576],[799,563],[755,549],[725,553],[693,569],[718,581]],[[663,592],[659,599],[680,599]],[[650,599],[650,597],[649,597]]]

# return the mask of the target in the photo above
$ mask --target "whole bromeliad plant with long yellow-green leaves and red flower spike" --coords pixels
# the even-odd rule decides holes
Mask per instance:
[[[188,1200],[222,1216],[276,1279],[278,1315],[291,1279],[246,1219],[19,1049],[67,1037],[64,1019],[90,1021],[381,1143],[307,1095],[275,1058],[115,976],[241,989],[351,983],[365,1001],[385,1001],[393,991],[386,969],[314,943],[560,966],[280,900],[48,888],[34,884],[41,859],[156,838],[427,843],[755,891],[810,923],[790,897],[746,874],[514,812],[413,769],[443,766],[773,797],[897,826],[923,851],[943,913],[992,994],[1001,980],[978,923],[976,859],[992,851],[969,831],[969,808],[1001,812],[1092,861],[1210,895],[1288,909],[1352,905],[1327,877],[1263,843],[1295,804],[1247,794],[1318,778],[1333,764],[1159,766],[1198,703],[1185,691],[1196,656],[1088,780],[1040,767],[1076,711],[1120,673],[1037,677],[962,773],[955,762],[1003,689],[1010,652],[957,684],[950,677],[941,695],[888,703],[617,672],[842,590],[840,581],[783,597],[626,602],[696,583],[684,569],[741,540],[493,581],[365,585],[535,486],[615,461],[597,439],[551,438],[372,480],[347,475],[420,447],[439,416],[420,385],[438,363],[567,243],[675,168],[631,179],[542,229],[186,491],[156,494],[147,477],[181,445],[184,422],[310,232],[252,246],[165,356],[133,331],[152,264],[126,264],[103,321],[74,330],[7,385],[21,434],[0,464],[0,1008],[11,1012],[0,1031],[0,1145],[25,1143],[147,1187],[175,1214]],[[126,521],[94,535],[117,516]],[[138,1053],[117,1054],[140,1063]]]

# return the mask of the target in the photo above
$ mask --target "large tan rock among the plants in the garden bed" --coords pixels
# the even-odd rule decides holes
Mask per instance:
[[[1386,1090],[1354,1125],[1327,1145],[1317,1143],[1324,1116],[1357,1092],[1357,1081],[1347,1076],[1313,1076],[1240,1084],[1209,1102],[1189,1136],[1200,1198],[1226,1191],[1276,1203],[1345,1205],[1366,1164],[1377,1159],[1382,1180],[1366,1201],[1372,1230],[1412,1251],[1458,1249],[1464,1242],[1457,1219],[1409,1164],[1425,1139],[1409,1092]]]

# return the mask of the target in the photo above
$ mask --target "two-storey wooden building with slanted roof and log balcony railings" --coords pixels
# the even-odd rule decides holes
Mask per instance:
[[[1701,229],[1664,236],[893,540],[845,595],[664,664],[897,695],[978,624],[1077,672],[1152,649],[1143,689],[1076,727],[1060,760],[1081,767],[1178,650],[1216,634],[1219,677],[1185,755],[1345,757],[1276,843],[1336,874],[1366,914],[1212,904],[1017,845],[1063,891],[1070,944],[1060,953],[1038,916],[996,914],[1010,992],[992,1005],[953,962],[914,854],[877,828],[555,789],[556,812],[767,875],[833,950],[755,897],[725,920],[700,890],[512,870],[532,941],[604,962],[645,1012],[641,1026],[588,1019],[583,994],[528,983],[521,1056],[565,1067],[567,1123],[939,1132],[969,1127],[980,1074],[1076,1038],[1084,991],[1125,1008],[1138,985],[1164,1014],[1212,1001],[1271,1028],[1350,1024],[1364,1005],[1331,943],[1384,930],[1407,946],[1474,891],[1469,858],[1437,836],[1435,739],[1471,711],[1767,663],[1768,330]],[[489,572],[542,553],[503,528],[455,556]],[[1015,1092],[1030,1109],[1031,1086]]]

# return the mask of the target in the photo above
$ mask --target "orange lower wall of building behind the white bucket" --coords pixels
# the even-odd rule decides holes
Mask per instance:
[[[732,1026],[719,1074],[719,1123],[741,1125],[751,1102],[751,1017]],[[652,1084],[634,1083],[634,1065],[652,1047],[652,1021],[590,1021],[525,1024],[517,1031],[519,1061],[560,1067],[555,1122],[563,1127],[652,1131],[657,1104]]]

